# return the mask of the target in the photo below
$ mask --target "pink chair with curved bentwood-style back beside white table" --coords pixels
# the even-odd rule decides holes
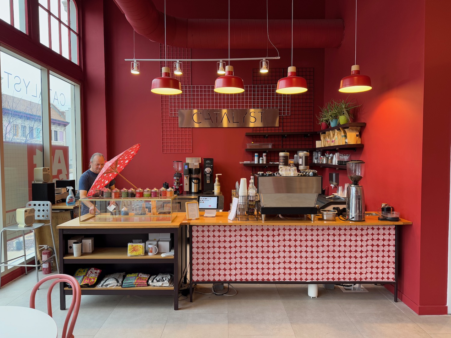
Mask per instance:
[[[78,284],[78,281],[68,274],[51,274],[50,276],[44,277],[39,282],[36,283],[34,288],[32,289],[31,296],[30,296],[30,307],[34,309],[34,301],[36,296],[37,289],[42,285],[42,283],[45,283],[46,281],[50,279],[56,279],[53,281],[49,287],[49,291],[47,292],[47,313],[49,316],[52,316],[52,301],[51,301],[51,293],[53,287],[62,282],[69,283],[72,287],[72,301],[70,303],[70,307],[68,310],[68,313],[66,315],[66,320],[64,321],[64,327],[63,327],[63,333],[61,338],[74,338],[74,335],[72,332],[74,331],[75,322],[77,321],[78,316],[78,310],[80,309],[80,301],[82,292],[80,289],[80,284]],[[74,315],[72,315],[74,313]],[[69,325],[69,329],[67,329],[67,324],[69,323],[70,316],[72,315],[72,320]],[[67,332],[66,332],[67,330]]]

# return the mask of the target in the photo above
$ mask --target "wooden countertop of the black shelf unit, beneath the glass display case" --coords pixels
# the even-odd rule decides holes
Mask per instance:
[[[171,223],[93,223],[93,222],[80,222],[80,219],[74,218],[63,224],[58,225],[58,229],[122,229],[122,228],[179,228],[180,224],[185,218],[185,213],[179,212],[178,215]]]

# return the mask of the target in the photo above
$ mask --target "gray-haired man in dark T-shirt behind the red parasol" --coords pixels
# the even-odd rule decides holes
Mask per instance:
[[[91,189],[92,184],[97,178],[97,175],[102,170],[103,166],[105,165],[105,156],[103,156],[101,153],[94,153],[91,156],[91,160],[89,160],[89,169],[86,170],[78,180],[78,189],[80,190],[80,198],[86,198],[87,192],[89,189]],[[107,185],[110,189],[114,189],[115,180],[111,180],[111,182]],[[96,209],[94,204],[90,201],[83,201],[82,204],[82,210],[81,215],[85,215],[88,212],[92,215],[95,215],[95,213],[99,212],[99,210]]]

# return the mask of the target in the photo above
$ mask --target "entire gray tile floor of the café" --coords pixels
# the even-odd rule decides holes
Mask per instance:
[[[34,271],[0,289],[0,305],[28,306]],[[37,294],[37,309],[46,311],[46,288]],[[234,284],[232,297],[194,293],[193,303],[135,296],[82,296],[76,338],[301,338],[301,337],[434,337],[451,338],[451,316],[419,316],[382,286],[365,285],[367,293],[306,285]],[[211,285],[197,291],[211,292]],[[230,291],[233,293],[233,290]],[[184,296],[180,296],[180,299]],[[59,292],[52,294],[53,317],[60,329]],[[67,296],[69,304],[70,297]],[[1,336],[1,328],[0,328]],[[32,337],[32,336],[30,336]]]

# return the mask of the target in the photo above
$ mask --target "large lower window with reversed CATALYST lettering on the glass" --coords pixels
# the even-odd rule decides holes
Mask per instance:
[[[15,211],[32,200],[34,168],[51,167],[53,181],[78,179],[81,133],[79,86],[8,50],[0,51],[2,139],[5,191],[4,226],[15,224]],[[48,86],[46,85],[48,81]],[[47,95],[48,94],[48,95]],[[0,204],[1,208],[1,204]],[[2,224],[0,224],[0,227]],[[6,233],[5,233],[6,234]],[[22,255],[34,257],[32,233],[7,232],[2,261]],[[5,267],[2,267],[1,272]],[[8,270],[13,267],[8,267]]]

